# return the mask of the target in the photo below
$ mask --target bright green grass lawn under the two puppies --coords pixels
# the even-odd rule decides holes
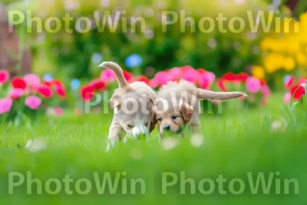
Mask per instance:
[[[267,107],[258,109],[235,109],[234,104],[224,107],[223,114],[216,116],[203,114],[201,146],[194,146],[190,139],[177,138],[176,146],[166,144],[171,149],[165,149],[165,144],[159,144],[158,132],[150,134],[150,141],[128,141],[119,144],[111,152],[106,153],[106,137],[111,114],[89,114],[75,116],[67,114],[55,118],[53,122],[41,119],[32,127],[14,127],[2,124],[0,127],[0,199],[3,204],[304,204],[307,179],[306,167],[306,137],[307,127],[290,124],[286,130],[271,130],[273,120],[288,119],[287,110],[282,105],[280,95],[274,95]],[[27,140],[42,137],[47,142],[47,149],[31,153],[25,150]],[[37,194],[33,183],[32,194],[27,194],[27,172],[32,178],[42,181],[42,194]],[[185,172],[185,178],[195,181],[195,194],[191,187],[183,182],[180,173]],[[19,172],[25,176],[23,185],[14,187],[13,194],[8,194],[9,172]],[[116,194],[98,194],[94,172],[102,181],[104,173],[111,173],[113,179],[116,173],[125,172],[119,180]],[[162,194],[163,173],[171,172],[178,176],[178,183],[167,188],[167,194]],[[268,178],[270,172],[279,172],[274,176],[272,189],[264,194],[259,189],[252,194],[247,173],[255,177],[264,173]],[[50,178],[62,180],[70,175],[73,182],[70,190],[65,193],[64,183],[59,194],[46,193],[45,182]],[[173,174],[173,175],[174,175]],[[198,183],[204,178],[215,180],[223,175],[226,195],[218,191],[217,183],[212,194],[204,195],[199,191]],[[89,194],[76,193],[75,182],[87,178],[92,184]],[[141,178],[145,181],[145,194],[141,194],[140,183],[136,186],[136,194],[130,194],[130,180]],[[230,193],[228,186],[233,178],[240,178],[245,183],[242,194]],[[281,194],[276,194],[281,181]],[[295,194],[294,185],[290,193],[284,194],[284,179],[295,178],[299,182],[299,194]],[[127,179],[128,194],[122,194],[124,182]],[[18,177],[14,178],[14,182]],[[167,177],[170,182],[172,177]],[[256,180],[254,178],[254,180]],[[234,190],[239,190],[239,182],[234,184]],[[85,190],[85,182],[81,190]],[[205,190],[209,190],[206,182]],[[185,194],[181,194],[185,188]],[[212,188],[212,186],[211,186]],[[220,187],[221,188],[221,187]],[[51,186],[54,190],[54,184]],[[193,191],[193,189],[192,189]]]

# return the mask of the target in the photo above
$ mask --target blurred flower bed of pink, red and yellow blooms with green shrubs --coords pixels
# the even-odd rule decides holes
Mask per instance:
[[[202,33],[197,27],[195,32],[190,32],[191,25],[185,27],[186,32],[180,32],[180,21],[168,25],[167,32],[162,32],[162,11],[180,13],[181,9],[185,10],[185,17],[193,17],[196,21],[205,16],[214,19],[219,13],[228,19],[234,16],[246,18],[247,10],[254,16],[258,11],[264,11],[268,18],[269,11],[279,9],[275,17],[284,17],[280,22],[283,25],[284,21],[292,19],[283,3],[277,0],[210,3],[198,0],[30,0],[13,3],[9,10],[31,9],[32,17],[39,16],[42,23],[48,17],[62,18],[69,13],[74,17],[69,25],[73,32],[62,29],[56,33],[27,33],[26,43],[31,45],[35,74],[9,79],[7,71],[0,71],[0,88],[4,91],[0,96],[0,116],[19,120],[21,113],[35,120],[33,116],[38,113],[62,115],[65,108],[74,108],[75,114],[101,112],[108,102],[106,98],[109,96],[105,93],[118,87],[111,70],[97,67],[106,60],[119,63],[129,83],[144,81],[156,90],[169,80],[185,79],[203,89],[246,92],[249,97],[239,100],[238,109],[265,106],[271,90],[280,90],[282,84],[286,91],[285,104],[291,99],[302,101],[305,89],[300,85],[306,79],[307,66],[307,13],[301,14],[289,29],[281,26],[280,32],[274,30],[278,24],[275,20],[269,33],[261,32],[264,29],[259,22],[258,32],[251,32],[249,25],[240,33],[217,30]],[[121,21],[115,32],[111,32],[107,25],[103,32],[99,32],[95,10],[100,15],[112,11],[113,17],[115,11],[122,10],[126,13],[121,17],[143,17],[145,32],[138,24],[136,32],[132,32],[129,21],[126,32],[122,32]],[[89,32],[82,33],[75,27],[75,19],[81,16],[91,19]],[[287,29],[294,31],[297,25],[299,32],[283,32]],[[86,110],[85,104],[93,104],[93,100],[100,102],[91,106],[90,111]],[[216,109],[219,105],[219,102],[213,102],[211,106]]]

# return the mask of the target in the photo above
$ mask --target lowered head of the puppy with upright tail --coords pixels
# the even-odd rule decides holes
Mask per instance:
[[[146,95],[141,96],[133,91],[120,95],[115,93],[110,100],[115,120],[126,134],[135,138],[155,128],[155,120],[152,119],[152,105],[153,101]]]

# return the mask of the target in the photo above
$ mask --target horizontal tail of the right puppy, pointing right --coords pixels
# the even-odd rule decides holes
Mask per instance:
[[[230,100],[238,97],[243,97],[247,94],[242,92],[214,92],[210,90],[197,89],[197,97],[200,99],[208,99],[208,100]]]

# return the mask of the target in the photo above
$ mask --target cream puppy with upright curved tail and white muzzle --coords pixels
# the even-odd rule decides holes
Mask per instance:
[[[110,101],[109,106],[114,109],[108,140],[111,146],[117,139],[121,140],[121,132],[138,138],[140,134],[150,133],[155,129],[157,121],[153,119],[153,100],[157,93],[146,83],[135,81],[128,84],[124,78],[121,67],[113,62],[105,61],[99,65],[111,69],[117,78],[118,86]],[[107,150],[110,146],[107,146]]]

